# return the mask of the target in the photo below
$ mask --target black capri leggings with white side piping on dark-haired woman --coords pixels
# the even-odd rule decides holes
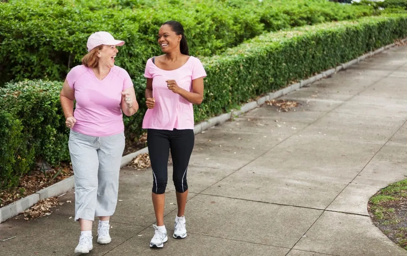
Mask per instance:
[[[164,194],[168,181],[168,154],[173,159],[175,190],[183,193],[188,189],[186,171],[194,148],[194,130],[147,129],[147,146],[153,169],[153,192]]]

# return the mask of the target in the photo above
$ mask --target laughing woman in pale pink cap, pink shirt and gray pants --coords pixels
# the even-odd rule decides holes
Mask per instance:
[[[70,128],[69,152],[75,180],[75,221],[81,226],[75,253],[92,248],[92,223],[98,216],[97,242],[110,243],[109,218],[116,209],[120,161],[125,148],[123,113],[138,110],[133,82],[114,65],[125,42],[99,31],[88,38],[82,65],[66,76],[60,100]],[[76,106],[74,110],[74,100]]]

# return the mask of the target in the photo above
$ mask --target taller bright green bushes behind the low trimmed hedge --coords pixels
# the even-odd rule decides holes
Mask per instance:
[[[156,34],[166,20],[180,21],[191,54],[222,53],[266,31],[372,15],[369,6],[326,0],[13,0],[0,2],[0,86],[10,80],[62,80],[99,30],[126,41],[117,64],[132,77],[160,54]]]

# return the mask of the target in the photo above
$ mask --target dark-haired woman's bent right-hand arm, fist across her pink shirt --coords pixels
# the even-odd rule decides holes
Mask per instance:
[[[167,80],[168,89],[174,93],[178,93],[184,99],[192,104],[201,104],[204,99],[204,77],[199,77],[192,80],[192,92],[182,89],[178,86],[175,80]]]

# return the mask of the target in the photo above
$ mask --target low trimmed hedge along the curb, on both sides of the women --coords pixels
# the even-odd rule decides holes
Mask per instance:
[[[221,55],[203,57],[201,61],[208,77],[205,79],[204,102],[194,105],[195,121],[219,115],[257,95],[335,67],[406,35],[407,15],[363,18],[354,22],[333,22],[265,33]],[[127,139],[141,135],[141,122],[146,110],[145,79],[138,76],[133,83],[140,110],[132,117],[124,117]],[[51,164],[69,161],[69,130],[65,127],[59,105],[61,86],[61,82],[38,80],[8,83],[6,88],[0,89],[3,96],[0,109],[10,113],[0,112],[9,131],[0,137],[0,146],[14,145],[7,149],[10,154],[2,153],[0,163],[7,163],[13,156],[15,160],[10,161],[7,168],[0,166],[0,177],[9,175],[13,165],[20,163],[17,155],[26,159],[24,164],[27,168],[33,166],[34,159],[30,154],[24,154],[33,149],[35,159]],[[18,135],[20,130],[21,136]],[[24,139],[28,143],[22,143]],[[22,144],[22,149],[17,148],[13,152],[15,145]],[[27,149],[25,145],[28,145]],[[2,150],[4,152],[4,148]],[[6,179],[4,183],[9,181]]]

